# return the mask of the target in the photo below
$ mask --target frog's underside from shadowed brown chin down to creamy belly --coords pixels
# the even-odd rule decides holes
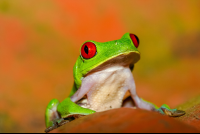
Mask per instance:
[[[131,70],[139,58],[130,52],[100,64],[85,75],[71,100],[97,112],[121,107],[127,91],[135,94],[135,89],[130,90],[130,85],[135,88]]]

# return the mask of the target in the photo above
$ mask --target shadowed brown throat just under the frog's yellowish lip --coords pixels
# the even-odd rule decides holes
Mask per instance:
[[[123,67],[129,67],[130,69],[133,67],[133,65],[139,61],[140,54],[139,52],[129,52],[117,55],[115,57],[112,57],[106,62],[102,62],[100,64],[95,65],[96,67],[89,71],[87,74],[85,74],[83,77],[86,77],[90,74],[93,74],[95,72],[104,70],[106,68],[112,67],[112,66],[123,66]],[[132,70],[132,69],[131,69]]]

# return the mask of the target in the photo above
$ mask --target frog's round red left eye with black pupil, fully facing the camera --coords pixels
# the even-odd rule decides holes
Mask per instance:
[[[84,59],[90,59],[96,55],[96,45],[92,42],[86,42],[81,47],[81,56]]]

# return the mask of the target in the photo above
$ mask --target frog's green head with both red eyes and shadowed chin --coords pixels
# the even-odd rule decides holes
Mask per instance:
[[[119,40],[104,43],[92,40],[84,42],[73,70],[77,88],[86,75],[113,65],[128,66],[132,70],[140,59],[138,45],[138,37],[130,33],[124,34]]]

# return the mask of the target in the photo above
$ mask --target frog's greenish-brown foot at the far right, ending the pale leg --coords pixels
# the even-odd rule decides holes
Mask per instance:
[[[170,117],[178,117],[185,114],[185,111],[178,109],[170,109],[170,107],[166,104],[163,104],[159,109],[156,109],[161,114],[168,115]]]

